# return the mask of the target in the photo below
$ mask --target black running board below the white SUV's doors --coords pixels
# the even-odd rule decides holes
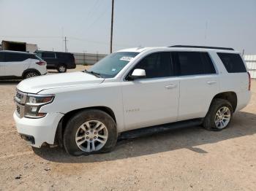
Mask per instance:
[[[193,120],[184,120],[181,122],[172,122],[163,125],[155,125],[148,128],[139,128],[135,130],[128,130],[120,133],[118,136],[118,140],[121,139],[134,139],[141,136],[151,136],[155,133],[162,133],[166,131],[170,131],[173,129],[179,128],[187,128],[191,126],[201,125],[203,122],[203,118],[193,119]]]

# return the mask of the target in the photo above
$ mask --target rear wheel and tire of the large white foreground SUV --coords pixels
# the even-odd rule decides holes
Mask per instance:
[[[207,130],[225,129],[230,124],[232,117],[233,108],[230,102],[225,99],[216,98],[212,101],[210,109],[203,120],[203,127]],[[228,118],[229,120],[227,120]]]

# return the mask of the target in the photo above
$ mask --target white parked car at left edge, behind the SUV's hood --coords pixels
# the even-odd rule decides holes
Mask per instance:
[[[26,79],[46,73],[46,62],[35,54],[0,51],[0,79]]]

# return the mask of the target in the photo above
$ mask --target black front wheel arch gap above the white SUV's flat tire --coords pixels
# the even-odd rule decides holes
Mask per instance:
[[[83,110],[88,110],[88,109],[98,109],[102,112],[106,112],[116,122],[116,115],[114,114],[113,110],[110,109],[108,106],[91,106],[91,107],[86,107],[86,108],[75,109],[75,110],[72,110],[72,111],[67,112],[66,114],[64,114],[64,116],[59,121],[59,125],[58,125],[56,133],[55,133],[54,142],[59,144],[62,147],[63,146],[64,130],[66,128],[67,122],[70,119],[70,117],[77,114],[78,112],[81,112]]]

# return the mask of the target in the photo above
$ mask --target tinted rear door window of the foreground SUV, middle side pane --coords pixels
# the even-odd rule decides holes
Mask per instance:
[[[207,52],[173,52],[178,74],[215,74],[214,65]]]

